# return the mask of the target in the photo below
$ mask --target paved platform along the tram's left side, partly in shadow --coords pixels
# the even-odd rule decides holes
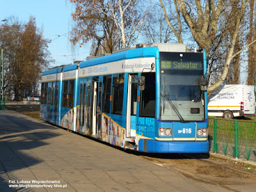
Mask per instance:
[[[0,191],[226,191],[40,122],[0,111]]]

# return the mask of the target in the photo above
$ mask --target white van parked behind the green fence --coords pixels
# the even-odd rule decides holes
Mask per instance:
[[[234,118],[255,115],[254,86],[225,84],[208,97],[208,115]]]

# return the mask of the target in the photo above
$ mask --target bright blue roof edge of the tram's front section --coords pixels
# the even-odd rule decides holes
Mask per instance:
[[[110,63],[120,60],[130,60],[134,58],[158,58],[157,47],[143,47],[138,49],[129,49],[127,51],[117,52],[114,54],[109,54],[107,56],[102,56],[100,58],[95,58],[89,61],[83,61],[80,63],[79,68],[89,67],[92,65],[100,65],[103,63]]]

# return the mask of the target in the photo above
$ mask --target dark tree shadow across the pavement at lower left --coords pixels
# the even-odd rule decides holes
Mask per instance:
[[[45,140],[59,136],[52,132],[54,129],[15,111],[0,111],[0,191],[31,191],[29,188],[10,188],[9,185],[13,180],[26,180],[32,174],[29,169],[22,169],[42,162],[33,150],[47,145]]]

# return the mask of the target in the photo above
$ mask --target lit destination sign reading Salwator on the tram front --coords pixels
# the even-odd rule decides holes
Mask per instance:
[[[202,70],[202,63],[196,61],[161,61],[162,69]]]

